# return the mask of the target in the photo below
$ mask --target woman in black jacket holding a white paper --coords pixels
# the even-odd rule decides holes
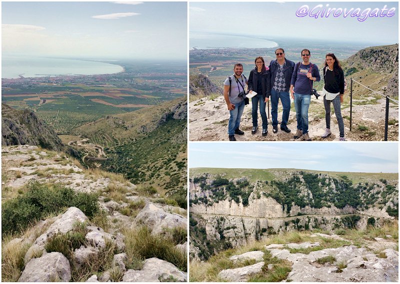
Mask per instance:
[[[271,93],[270,83],[269,83],[269,68],[265,66],[264,58],[258,56],[254,60],[255,68],[250,71],[248,76],[248,90],[249,93],[255,91],[257,94],[251,98],[252,105],[252,122],[253,127],[251,129],[251,134],[254,134],[258,128],[258,114],[257,106],[259,102],[259,113],[262,119],[262,136],[268,134],[268,120],[265,113],[265,104],[269,99]]]

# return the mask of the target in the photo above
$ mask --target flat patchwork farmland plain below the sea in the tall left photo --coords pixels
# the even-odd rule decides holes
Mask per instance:
[[[120,61],[115,74],[2,79],[1,101],[29,108],[57,134],[107,115],[131,112],[186,94],[185,64]],[[112,144],[106,135],[104,146]]]

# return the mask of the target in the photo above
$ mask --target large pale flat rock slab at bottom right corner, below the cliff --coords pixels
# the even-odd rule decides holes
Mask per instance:
[[[301,244],[299,244],[301,246]],[[365,248],[354,245],[326,248],[309,254],[290,253],[287,249],[269,248],[272,256],[293,263],[287,279],[299,282],[397,282],[398,252],[384,249],[379,257]],[[334,262],[321,265],[316,262],[325,256],[334,257]],[[338,263],[341,267],[338,268]]]

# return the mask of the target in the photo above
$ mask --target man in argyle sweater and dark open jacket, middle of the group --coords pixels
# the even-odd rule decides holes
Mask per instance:
[[[276,59],[269,63],[270,85],[271,89],[271,115],[272,115],[272,132],[278,131],[278,100],[282,103],[283,113],[280,122],[280,130],[286,133],[290,132],[287,128],[287,120],[289,120],[290,97],[289,86],[291,74],[293,73],[294,62],[284,57],[283,48],[275,50]]]

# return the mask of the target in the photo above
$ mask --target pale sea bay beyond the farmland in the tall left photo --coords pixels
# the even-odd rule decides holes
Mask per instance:
[[[15,55],[1,56],[1,78],[95,75],[121,71],[123,71],[122,66],[98,61]]]

